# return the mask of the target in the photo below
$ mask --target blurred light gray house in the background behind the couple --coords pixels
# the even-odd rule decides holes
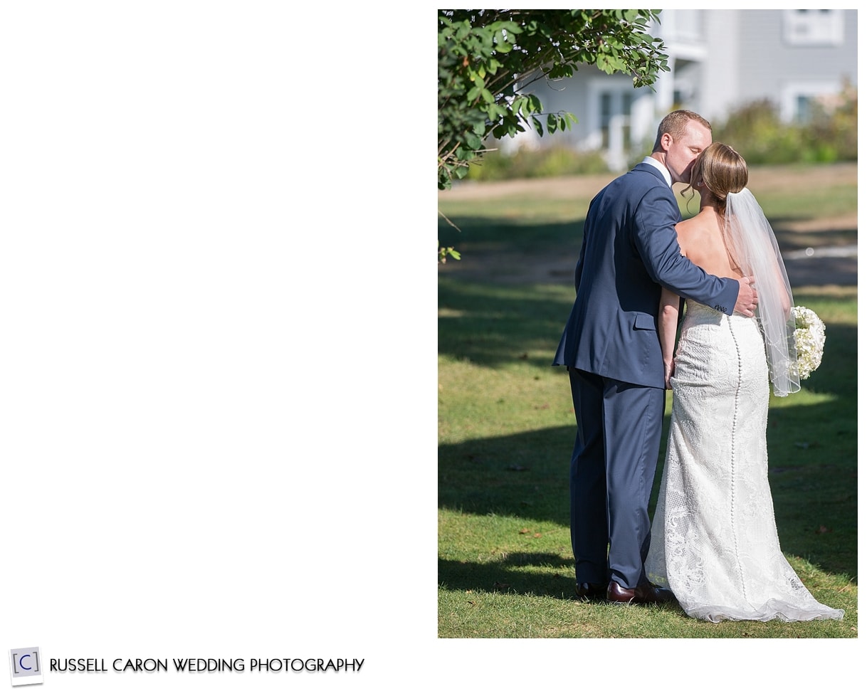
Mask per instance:
[[[842,17],[842,42],[834,45],[789,40],[791,30],[787,34],[786,27],[792,26],[787,24],[792,15],[786,12],[799,11],[662,10],[661,23],[650,33],[664,40],[671,71],[659,75],[653,90],[632,88],[629,77],[605,75],[593,67],[582,68],[567,80],[538,81],[529,90],[539,96],[545,110],[573,113],[577,124],[570,132],[542,138],[528,132],[496,146],[505,152],[522,146],[602,148],[611,169],[618,170],[626,165],[629,149],[645,147],[662,115],[675,106],[719,125],[734,109],[768,99],[784,119],[792,119],[799,96],[838,94],[846,84],[857,88],[857,10],[830,10],[842,12],[834,17]],[[794,22],[822,23],[827,16],[804,17],[796,15]],[[610,104],[607,128],[603,102]],[[628,142],[622,138],[626,134]]]

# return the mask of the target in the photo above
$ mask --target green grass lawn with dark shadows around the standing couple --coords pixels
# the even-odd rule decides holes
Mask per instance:
[[[819,182],[798,188],[789,205],[774,197],[775,227],[785,224],[786,208],[799,220],[811,209],[854,213],[855,195],[840,192],[839,181],[833,186],[838,206],[830,210]],[[762,201],[759,187],[751,188]],[[552,203],[530,195],[513,203],[518,198],[511,196],[501,216],[492,201],[449,204],[449,218],[474,229],[461,250],[518,246],[532,261],[536,252],[565,246],[577,256],[589,199]],[[857,289],[822,284],[794,293],[825,321],[825,357],[798,394],[771,399],[769,479],[786,557],[820,602],[846,610],[843,621],[713,624],[689,619],[674,604],[616,608],[573,599],[568,470],[575,419],[568,376],[551,367],[574,297],[570,277],[524,284],[441,272],[439,636],[857,637]]]

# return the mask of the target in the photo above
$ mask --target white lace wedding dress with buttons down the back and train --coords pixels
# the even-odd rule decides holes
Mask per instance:
[[[648,577],[698,619],[842,619],[843,610],[816,601],[779,549],[756,320],[687,306]]]

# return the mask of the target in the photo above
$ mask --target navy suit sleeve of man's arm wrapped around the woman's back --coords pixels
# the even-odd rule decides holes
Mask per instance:
[[[681,255],[675,224],[681,212],[667,187],[654,186],[636,206],[634,243],[650,277],[668,290],[731,315],[740,285],[707,274]]]

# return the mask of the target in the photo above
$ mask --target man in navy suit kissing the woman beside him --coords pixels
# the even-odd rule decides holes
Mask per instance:
[[[575,304],[553,362],[569,370],[577,421],[570,522],[579,597],[674,599],[644,571],[665,409],[660,284],[727,315],[753,316],[756,306],[752,277],[708,276],[677,244],[681,212],[671,186],[689,182],[711,140],[701,115],[669,113],[653,153],[610,182],[587,212]]]

